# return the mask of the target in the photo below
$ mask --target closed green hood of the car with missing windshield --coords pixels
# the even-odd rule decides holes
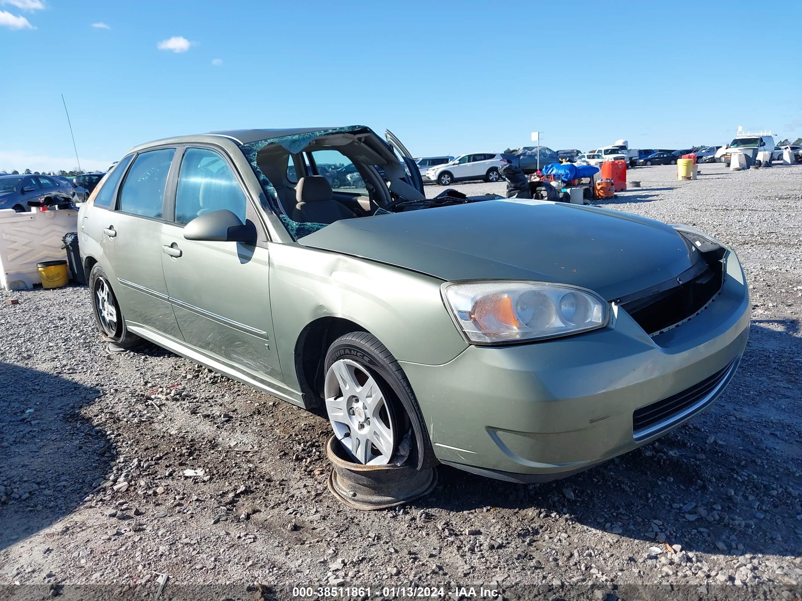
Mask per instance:
[[[658,221],[540,200],[488,200],[340,220],[298,242],[442,280],[573,284],[606,300],[678,276],[699,258]]]

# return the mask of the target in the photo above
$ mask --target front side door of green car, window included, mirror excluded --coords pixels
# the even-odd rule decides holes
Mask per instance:
[[[187,147],[180,160],[160,261],[184,341],[263,385],[282,381],[270,314],[267,234],[225,152]],[[198,216],[227,209],[259,232],[257,244],[184,239]]]

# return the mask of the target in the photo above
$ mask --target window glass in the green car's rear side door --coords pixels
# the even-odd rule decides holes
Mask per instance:
[[[117,210],[161,219],[164,186],[175,148],[162,148],[136,155],[123,182]]]

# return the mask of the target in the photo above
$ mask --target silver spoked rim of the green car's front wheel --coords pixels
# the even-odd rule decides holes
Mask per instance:
[[[334,435],[358,463],[385,466],[394,452],[395,419],[371,373],[352,359],[334,361],[323,385]]]

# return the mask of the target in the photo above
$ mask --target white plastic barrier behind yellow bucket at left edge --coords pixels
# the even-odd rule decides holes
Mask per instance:
[[[6,290],[41,284],[36,264],[67,260],[62,238],[78,231],[78,212],[72,209],[18,213],[0,210],[0,284]]]

